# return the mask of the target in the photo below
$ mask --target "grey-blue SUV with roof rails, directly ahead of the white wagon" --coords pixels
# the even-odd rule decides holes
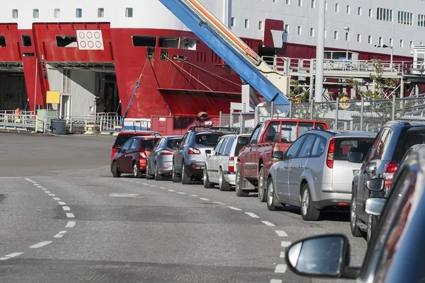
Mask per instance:
[[[173,182],[181,181],[188,185],[192,179],[202,180],[207,157],[220,137],[232,132],[236,131],[220,127],[191,127],[173,155]]]

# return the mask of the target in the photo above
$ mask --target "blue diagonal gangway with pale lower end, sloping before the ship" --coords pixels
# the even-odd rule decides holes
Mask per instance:
[[[279,74],[198,0],[159,0],[268,102],[289,104],[290,77]]]

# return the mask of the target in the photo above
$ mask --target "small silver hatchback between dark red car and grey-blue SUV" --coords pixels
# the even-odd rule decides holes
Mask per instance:
[[[159,139],[157,146],[146,158],[146,178],[162,180],[173,171],[173,154],[183,136],[166,136]]]

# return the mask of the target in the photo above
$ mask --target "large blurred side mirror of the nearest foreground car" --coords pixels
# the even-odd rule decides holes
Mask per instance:
[[[350,263],[350,245],[344,235],[306,238],[286,250],[285,260],[293,272],[308,277],[356,279]]]

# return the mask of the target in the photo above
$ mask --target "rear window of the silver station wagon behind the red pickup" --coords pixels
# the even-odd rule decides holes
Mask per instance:
[[[348,161],[348,152],[351,151],[351,149],[357,149],[363,154],[364,161],[370,147],[372,147],[373,140],[373,138],[364,137],[344,137],[335,139],[334,160]]]

